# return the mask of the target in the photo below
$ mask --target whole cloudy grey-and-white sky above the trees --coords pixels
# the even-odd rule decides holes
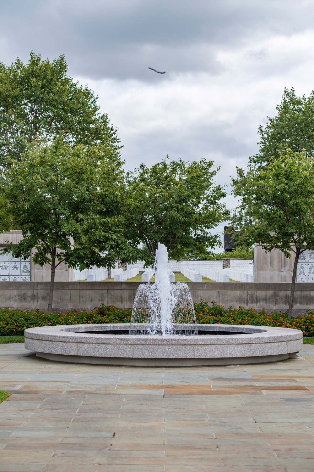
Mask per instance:
[[[0,8],[0,60],[64,54],[119,128],[126,169],[165,154],[206,158],[229,184],[257,151],[258,125],[274,116],[284,87],[314,88],[314,0],[0,0]]]

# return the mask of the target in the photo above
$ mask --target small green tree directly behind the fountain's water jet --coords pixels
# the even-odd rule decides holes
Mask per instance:
[[[208,257],[221,244],[209,230],[228,218],[226,193],[213,183],[212,161],[162,162],[129,172],[126,178],[125,231],[134,245],[145,244],[142,259],[151,265],[158,242],[173,259]]]

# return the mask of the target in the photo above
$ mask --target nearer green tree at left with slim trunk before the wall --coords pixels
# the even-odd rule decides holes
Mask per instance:
[[[35,248],[32,261],[50,264],[48,312],[61,262],[84,269],[110,267],[117,256],[137,260],[121,231],[122,162],[105,145],[36,141],[9,164],[0,181],[0,230],[21,228],[24,239],[4,251],[21,257]]]

